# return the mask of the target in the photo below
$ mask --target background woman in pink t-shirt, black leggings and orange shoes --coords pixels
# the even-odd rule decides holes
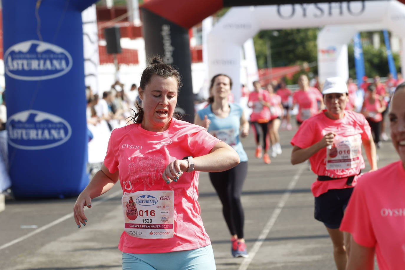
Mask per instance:
[[[256,158],[262,157],[262,149],[264,151],[263,161],[270,164],[269,148],[270,148],[270,134],[268,123],[270,121],[270,96],[269,92],[263,90],[258,81],[253,82],[254,91],[249,94],[247,106],[252,108],[250,114],[250,124],[254,132],[254,139],[256,142]],[[263,143],[260,146],[260,130],[262,131]]]

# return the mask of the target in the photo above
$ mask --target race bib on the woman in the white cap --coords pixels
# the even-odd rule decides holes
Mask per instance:
[[[326,170],[356,168],[360,162],[360,154],[360,135],[336,136],[332,148],[326,148]]]

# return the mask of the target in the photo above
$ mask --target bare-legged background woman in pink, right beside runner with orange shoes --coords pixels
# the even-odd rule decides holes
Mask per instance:
[[[281,119],[283,118],[283,105],[281,104],[281,97],[274,93],[273,85],[270,83],[267,85],[266,90],[270,96],[270,121],[269,121],[269,133],[271,141],[271,156],[276,157],[281,155],[283,151],[280,145],[280,136],[278,130],[280,128]]]

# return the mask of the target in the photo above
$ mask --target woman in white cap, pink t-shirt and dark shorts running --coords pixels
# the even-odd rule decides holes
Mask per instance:
[[[361,169],[365,168],[362,145],[371,170],[377,170],[375,144],[365,117],[345,111],[348,91],[343,79],[326,79],[322,96],[326,109],[304,121],[291,140],[291,163],[309,159],[311,170],[318,175],[311,186],[315,219],[324,223],[333,242],[336,267],[344,270],[350,234],[339,231],[339,226]]]

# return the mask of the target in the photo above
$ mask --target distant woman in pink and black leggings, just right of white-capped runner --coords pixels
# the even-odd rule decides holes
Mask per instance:
[[[367,98],[364,99],[361,112],[369,122],[371,131],[374,134],[375,145],[377,145],[377,148],[379,148],[381,146],[380,133],[382,112],[385,111],[386,105],[384,104],[383,97],[377,95],[377,90],[374,84],[369,85],[367,90]]]

